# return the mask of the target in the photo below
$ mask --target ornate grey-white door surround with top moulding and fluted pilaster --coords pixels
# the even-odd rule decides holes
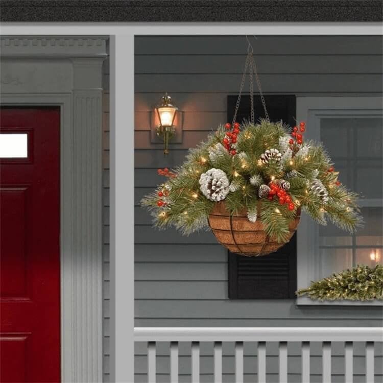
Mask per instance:
[[[1,104],[60,107],[61,381],[101,382],[105,39],[71,37],[65,42],[62,37],[41,37],[15,45],[16,40],[8,38],[5,45],[2,37]],[[75,50],[83,56],[87,47],[88,57],[78,57]],[[27,59],[24,66],[21,57]],[[53,59],[56,66],[52,69]],[[60,63],[63,71],[58,71],[55,82]],[[63,91],[52,92],[53,88]]]

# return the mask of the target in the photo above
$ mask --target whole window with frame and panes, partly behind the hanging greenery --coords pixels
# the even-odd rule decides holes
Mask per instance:
[[[298,232],[298,288],[358,264],[382,264],[382,99],[298,98],[299,121],[306,138],[323,141],[340,172],[339,180],[362,196],[365,226],[350,235],[328,223],[319,226],[302,214]],[[381,304],[323,302],[298,298],[299,304]]]

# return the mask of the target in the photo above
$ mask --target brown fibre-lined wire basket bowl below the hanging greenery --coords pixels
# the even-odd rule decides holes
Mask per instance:
[[[258,217],[259,217],[258,208]],[[300,220],[300,209],[297,217],[289,224],[290,234],[284,243],[278,243],[264,231],[260,221],[250,222],[246,210],[231,216],[226,210],[225,202],[218,202],[209,214],[209,226],[218,242],[233,253],[258,257],[278,250],[291,240]]]

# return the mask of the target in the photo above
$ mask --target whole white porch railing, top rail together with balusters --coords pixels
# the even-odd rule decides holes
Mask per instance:
[[[266,383],[266,343],[278,342],[279,382],[288,381],[288,342],[301,342],[301,381],[310,382],[310,342],[322,343],[322,382],[331,383],[331,342],[345,343],[345,382],[353,382],[353,342],[366,342],[366,383],[374,383],[374,342],[380,327],[139,327],[136,342],[148,342],[148,382],[156,382],[156,342],[170,342],[170,382],[178,383],[178,343],[191,342],[192,383],[200,382],[200,342],[214,342],[213,381],[222,382],[222,343],[235,342],[235,383],[244,381],[244,343],[257,342],[258,383]]]

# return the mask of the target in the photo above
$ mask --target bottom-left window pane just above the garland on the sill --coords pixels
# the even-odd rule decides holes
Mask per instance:
[[[333,273],[352,267],[352,249],[321,249],[319,278],[328,277]]]

